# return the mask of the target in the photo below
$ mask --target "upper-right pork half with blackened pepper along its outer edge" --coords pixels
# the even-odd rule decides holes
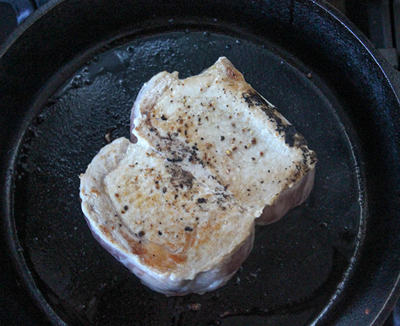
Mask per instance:
[[[310,194],[315,153],[225,57],[184,80],[160,72],[132,112],[138,145],[225,188],[259,225],[279,220]]]

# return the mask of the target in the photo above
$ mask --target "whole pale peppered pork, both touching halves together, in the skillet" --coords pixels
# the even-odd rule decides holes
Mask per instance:
[[[223,286],[253,248],[255,224],[305,201],[317,158],[227,58],[180,80],[143,85],[131,140],[100,150],[81,174],[93,236],[143,284],[166,295]]]

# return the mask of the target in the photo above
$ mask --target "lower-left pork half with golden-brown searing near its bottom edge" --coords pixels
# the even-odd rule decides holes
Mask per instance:
[[[223,286],[253,248],[254,218],[231,195],[126,138],[95,156],[81,199],[97,241],[166,295]]]

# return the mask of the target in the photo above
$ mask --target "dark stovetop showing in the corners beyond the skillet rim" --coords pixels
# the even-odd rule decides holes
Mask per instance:
[[[0,46],[15,28],[34,10],[49,0],[0,0]],[[399,70],[400,0],[327,0],[349,18]],[[0,260],[2,261],[1,257]],[[0,274],[6,272],[0,266]],[[7,282],[0,282],[0,325],[40,325],[35,309],[22,307],[17,294]],[[26,311],[26,316],[21,312]],[[10,318],[8,316],[18,316]],[[394,308],[383,326],[400,326],[400,304]]]

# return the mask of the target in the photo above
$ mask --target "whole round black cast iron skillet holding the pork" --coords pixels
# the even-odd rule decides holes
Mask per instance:
[[[152,75],[221,55],[303,133],[316,182],[227,286],[166,298],[92,238],[78,176],[106,134],[129,137]],[[40,325],[380,325],[399,296],[397,85],[323,1],[49,3],[0,50],[4,277]]]

